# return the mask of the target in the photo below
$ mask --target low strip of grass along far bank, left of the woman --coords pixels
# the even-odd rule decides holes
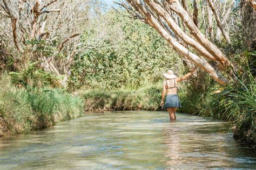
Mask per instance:
[[[161,86],[119,90],[86,90],[81,94],[86,111],[160,110]]]

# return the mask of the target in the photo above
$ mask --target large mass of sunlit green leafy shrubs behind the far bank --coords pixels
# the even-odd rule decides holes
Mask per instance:
[[[159,82],[169,68],[184,72],[178,54],[155,30],[115,11],[99,18],[82,41],[92,47],[75,58],[73,88],[139,87]]]

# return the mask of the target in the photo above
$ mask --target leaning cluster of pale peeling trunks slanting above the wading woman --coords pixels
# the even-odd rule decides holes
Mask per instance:
[[[120,5],[124,6],[133,17],[143,20],[143,22],[156,29],[176,51],[204,69],[215,81],[220,84],[225,83],[224,79],[221,79],[218,70],[225,72],[230,62],[220,49],[199,31],[192,16],[189,15],[179,1],[174,0],[159,3],[153,0],[126,0],[126,3],[123,2]],[[190,30],[190,34],[185,33],[180,26],[174,22],[171,17],[171,12],[176,13],[182,19],[188,30]],[[161,24],[163,22],[166,24]],[[171,29],[175,36],[166,31],[167,29]],[[189,47],[186,48],[180,44],[178,38],[190,45],[199,55],[193,53]],[[210,64],[212,62],[214,63],[213,65]],[[217,63],[218,68],[214,68],[215,63]]]

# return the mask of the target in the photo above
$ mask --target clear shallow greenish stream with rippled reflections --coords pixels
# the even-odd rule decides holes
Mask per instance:
[[[256,169],[255,149],[227,122],[167,112],[117,111],[0,138],[0,169]]]

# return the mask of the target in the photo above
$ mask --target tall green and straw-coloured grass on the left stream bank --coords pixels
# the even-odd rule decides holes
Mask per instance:
[[[83,101],[57,88],[0,84],[0,136],[39,130],[83,114]]]

